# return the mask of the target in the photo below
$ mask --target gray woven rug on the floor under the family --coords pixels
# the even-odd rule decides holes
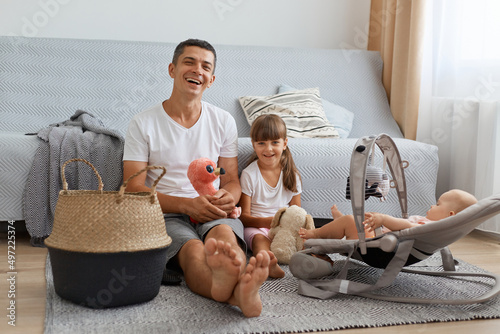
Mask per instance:
[[[336,263],[340,265],[339,259]],[[458,271],[484,272],[471,264],[459,263]],[[345,295],[329,300],[303,297],[297,294],[297,279],[288,267],[284,269],[285,278],[268,280],[261,288],[261,316],[247,319],[235,307],[193,294],[184,282],[180,286],[162,286],[158,296],[148,303],[104,310],[78,306],[55,293],[47,259],[45,333],[302,333],[500,318],[499,295],[483,304],[463,306],[393,303]],[[379,274],[377,269],[354,263],[349,276],[370,282]],[[481,278],[447,279],[400,273],[390,287],[379,293],[464,298],[477,296],[491,284],[489,279]]]

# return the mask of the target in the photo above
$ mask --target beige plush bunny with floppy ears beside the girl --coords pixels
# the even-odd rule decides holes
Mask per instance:
[[[274,215],[268,235],[272,240],[271,252],[279,263],[289,264],[292,255],[303,249],[304,241],[299,236],[301,227],[312,230],[314,221],[306,210],[297,205],[281,208]]]

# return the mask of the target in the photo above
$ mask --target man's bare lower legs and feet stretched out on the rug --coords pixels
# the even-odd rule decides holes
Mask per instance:
[[[207,234],[205,244],[190,240],[177,258],[193,292],[235,305],[247,317],[260,315],[259,288],[269,275],[271,261],[267,252],[259,252],[247,265],[231,228],[218,225]]]

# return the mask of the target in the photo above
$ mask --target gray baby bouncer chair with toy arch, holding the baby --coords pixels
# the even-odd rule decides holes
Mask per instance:
[[[500,276],[490,273],[457,272],[455,261],[447,246],[470,233],[475,227],[500,213],[500,194],[482,199],[454,216],[430,222],[425,225],[401,231],[381,234],[366,238],[364,221],[365,199],[375,187],[367,185],[367,164],[370,152],[376,148],[384,154],[396,189],[402,211],[402,217],[408,217],[406,181],[404,168],[407,163],[401,160],[393,140],[385,134],[360,138],[353,150],[348,181],[348,197],[359,240],[309,239],[304,243],[304,250],[295,253],[290,262],[290,271],[299,278],[299,294],[320,299],[331,298],[339,293],[358,295],[386,301],[410,302],[423,304],[473,304],[485,302],[500,292]],[[405,166],[406,163],[406,166]],[[366,193],[365,193],[366,191]],[[365,197],[367,195],[367,197]],[[416,270],[404,268],[427,259],[440,251],[442,270]],[[331,274],[331,264],[311,254],[341,254],[346,261],[333,279],[324,277]],[[347,279],[350,259],[383,269],[375,284]],[[400,272],[444,277],[482,277],[493,279],[489,291],[475,298],[454,298],[442,300],[436,298],[413,298],[388,296],[373,291],[389,286]]]

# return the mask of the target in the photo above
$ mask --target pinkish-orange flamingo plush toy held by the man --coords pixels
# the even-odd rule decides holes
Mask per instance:
[[[217,168],[215,162],[208,158],[196,159],[188,167],[188,179],[200,196],[215,195],[217,189],[215,189],[213,182],[217,180],[219,175],[224,175],[225,173],[224,168]],[[229,218],[238,218],[240,215],[241,208],[235,207]],[[191,221],[196,223],[192,219]]]

